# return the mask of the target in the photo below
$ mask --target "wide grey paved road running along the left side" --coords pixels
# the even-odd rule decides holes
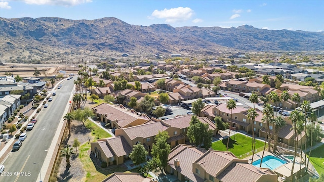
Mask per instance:
[[[48,108],[43,108],[37,116],[38,122],[34,128],[27,131],[27,138],[20,150],[11,152],[3,163],[5,173],[0,181],[36,181],[55,132],[62,122],[64,109],[68,104],[73,89],[73,80],[63,81],[63,86],[56,90],[53,101],[48,102]],[[38,163],[38,164],[33,164]],[[42,176],[42,179],[45,176]]]

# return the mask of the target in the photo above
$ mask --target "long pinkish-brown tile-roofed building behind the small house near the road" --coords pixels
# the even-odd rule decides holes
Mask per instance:
[[[100,104],[92,108],[101,122],[110,123],[112,128],[131,127],[145,123],[150,118],[145,114],[139,116],[131,109],[125,108],[123,105]]]

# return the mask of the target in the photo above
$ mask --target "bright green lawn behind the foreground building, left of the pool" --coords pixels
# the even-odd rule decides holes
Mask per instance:
[[[234,137],[236,141],[234,141]],[[212,148],[214,150],[226,151],[227,139],[212,143]],[[263,146],[264,146],[263,142],[256,140],[255,149],[258,149]],[[240,156],[245,153],[251,152],[252,151],[251,147],[252,147],[252,138],[250,136],[236,133],[235,135],[230,137],[229,144],[228,144],[228,151],[232,152],[235,156]]]

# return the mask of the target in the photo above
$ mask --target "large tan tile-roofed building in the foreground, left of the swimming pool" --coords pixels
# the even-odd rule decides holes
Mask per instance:
[[[171,150],[166,170],[179,180],[203,181],[277,181],[267,168],[257,168],[231,152],[215,151],[188,145]]]

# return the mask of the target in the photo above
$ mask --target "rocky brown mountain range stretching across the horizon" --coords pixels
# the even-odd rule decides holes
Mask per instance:
[[[65,54],[185,53],[224,51],[324,51],[324,32],[131,25],[117,18],[0,18],[0,56]],[[45,57],[46,57],[45,56]],[[44,58],[45,59],[45,58]]]

